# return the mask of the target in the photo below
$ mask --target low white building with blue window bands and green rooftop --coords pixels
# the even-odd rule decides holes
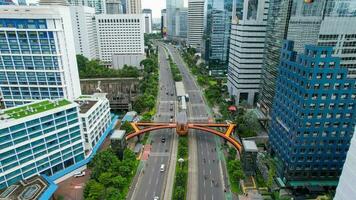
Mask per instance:
[[[0,189],[84,159],[76,103],[42,100],[0,112]]]

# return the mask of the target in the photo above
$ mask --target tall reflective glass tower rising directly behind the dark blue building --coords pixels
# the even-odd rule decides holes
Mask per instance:
[[[356,78],[356,1],[271,0],[263,64],[260,110],[269,116],[278,76],[279,51],[283,39],[294,40],[295,50],[314,44],[334,48],[341,66]],[[305,31],[308,30],[308,31]]]

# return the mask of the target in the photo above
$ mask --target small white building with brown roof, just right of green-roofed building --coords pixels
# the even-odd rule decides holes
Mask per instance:
[[[110,104],[105,93],[82,95],[77,100],[85,150],[90,154],[111,123]]]

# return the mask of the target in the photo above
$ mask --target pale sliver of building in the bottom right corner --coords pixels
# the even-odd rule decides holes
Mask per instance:
[[[350,149],[347,152],[344,167],[336,188],[335,200],[353,200],[356,197],[356,127],[351,139]]]

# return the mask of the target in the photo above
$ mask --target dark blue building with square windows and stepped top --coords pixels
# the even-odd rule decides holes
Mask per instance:
[[[347,77],[332,51],[307,45],[297,55],[292,41],[283,44],[269,143],[277,171],[291,187],[309,180],[336,186],[349,149],[356,80]]]

